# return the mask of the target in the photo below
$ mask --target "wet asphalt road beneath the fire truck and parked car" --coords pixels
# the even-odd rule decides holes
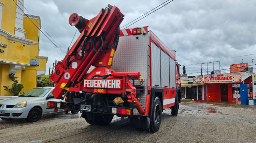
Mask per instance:
[[[256,106],[221,102],[182,102],[178,116],[162,114],[158,132],[129,126],[129,119],[116,117],[108,126],[92,126],[79,114],[44,116],[39,122],[25,119],[1,120],[2,143],[171,143],[248,142],[256,143]]]

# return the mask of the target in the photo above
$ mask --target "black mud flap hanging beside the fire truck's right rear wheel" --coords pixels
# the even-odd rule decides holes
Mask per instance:
[[[132,116],[130,117],[130,126],[149,129],[150,128],[150,117],[148,116]]]

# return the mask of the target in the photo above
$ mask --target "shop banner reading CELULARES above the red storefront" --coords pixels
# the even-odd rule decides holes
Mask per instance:
[[[241,73],[227,73],[217,75],[204,75],[204,83],[235,83],[242,82]]]

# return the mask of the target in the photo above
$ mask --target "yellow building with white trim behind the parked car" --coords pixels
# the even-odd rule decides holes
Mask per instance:
[[[0,0],[0,96],[11,96],[3,86],[12,86],[15,73],[21,92],[37,86],[45,75],[48,57],[39,56],[40,17],[25,15],[24,0]],[[33,21],[33,22],[31,22]]]

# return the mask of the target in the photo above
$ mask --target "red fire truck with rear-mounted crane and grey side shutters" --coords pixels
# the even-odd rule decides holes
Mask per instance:
[[[119,30],[123,17],[111,5],[90,20],[70,16],[70,25],[81,35],[49,77],[56,84],[52,94],[67,102],[47,106],[79,110],[91,125],[108,125],[116,115],[128,117],[131,126],[156,132],[164,109],[178,114],[179,64],[175,51],[149,27]]]

